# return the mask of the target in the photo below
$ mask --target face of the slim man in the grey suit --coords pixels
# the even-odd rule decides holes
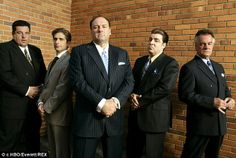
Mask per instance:
[[[69,42],[67,42],[66,36],[62,32],[58,32],[54,35],[53,44],[57,53],[60,53],[69,47]]]

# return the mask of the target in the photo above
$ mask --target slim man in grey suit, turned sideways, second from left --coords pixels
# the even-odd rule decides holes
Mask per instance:
[[[52,37],[56,57],[49,64],[38,106],[47,122],[50,158],[70,158],[72,88],[69,83],[68,48],[71,33],[57,28],[52,31]]]

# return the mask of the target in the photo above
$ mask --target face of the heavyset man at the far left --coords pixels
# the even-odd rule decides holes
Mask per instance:
[[[30,30],[27,26],[16,26],[16,31],[12,36],[19,46],[25,47],[29,44]]]

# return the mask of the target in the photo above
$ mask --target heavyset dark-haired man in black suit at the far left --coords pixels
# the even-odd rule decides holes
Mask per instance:
[[[13,40],[0,44],[0,151],[39,151],[37,97],[46,68],[39,48],[28,44],[30,24],[12,24]]]

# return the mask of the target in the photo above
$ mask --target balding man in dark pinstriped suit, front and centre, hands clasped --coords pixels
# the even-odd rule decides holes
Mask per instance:
[[[70,58],[76,92],[73,157],[94,158],[101,140],[104,157],[120,158],[123,106],[133,89],[133,75],[127,52],[109,44],[109,20],[93,18],[90,30],[93,41],[73,48]]]

